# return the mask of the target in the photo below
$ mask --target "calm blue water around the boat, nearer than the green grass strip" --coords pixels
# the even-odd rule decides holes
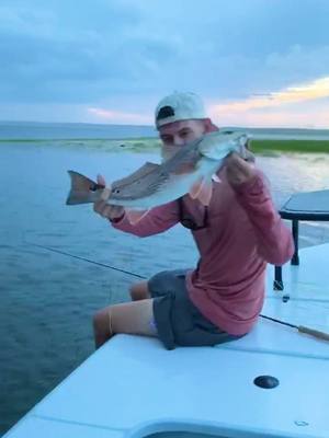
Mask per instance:
[[[133,277],[54,254],[48,245],[150,276],[197,254],[181,227],[148,239],[111,229],[90,206],[65,205],[68,169],[109,181],[156,154],[0,145],[0,435],[93,351],[91,319],[128,300]],[[329,155],[259,158],[276,205],[291,193],[329,187]],[[329,241],[328,224],[303,224],[304,245]],[[174,251],[172,251],[174,244]]]

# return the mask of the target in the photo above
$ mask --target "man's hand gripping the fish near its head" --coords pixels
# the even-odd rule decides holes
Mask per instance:
[[[257,172],[254,164],[240,158],[237,153],[231,153],[226,159],[227,181],[231,186],[238,186],[253,180]]]

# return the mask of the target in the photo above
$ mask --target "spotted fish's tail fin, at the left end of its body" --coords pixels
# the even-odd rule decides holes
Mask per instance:
[[[75,171],[68,171],[71,188],[66,199],[67,205],[88,204],[95,201],[95,192],[104,186]]]

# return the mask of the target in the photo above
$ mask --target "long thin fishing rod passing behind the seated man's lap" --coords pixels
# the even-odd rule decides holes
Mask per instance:
[[[32,246],[41,247],[41,249],[43,249],[43,250],[52,251],[52,252],[57,253],[57,254],[67,255],[68,257],[78,258],[78,260],[81,260],[81,261],[83,261],[83,262],[92,263],[92,264],[98,265],[98,266],[107,267],[107,268],[110,268],[110,269],[117,270],[117,272],[120,272],[120,273],[127,274],[127,275],[131,275],[131,276],[133,276],[133,277],[146,279],[146,277],[143,276],[143,275],[133,273],[133,272],[131,272],[131,270],[121,269],[121,268],[118,268],[118,267],[111,266],[111,265],[107,265],[107,264],[105,264],[105,263],[95,262],[95,261],[92,261],[92,260],[87,258],[87,257],[81,257],[80,255],[70,254],[70,253],[65,252],[65,251],[56,250],[56,249],[54,249],[54,247],[46,246],[46,245],[41,245],[41,244],[37,244],[37,243],[33,243],[33,242],[27,242],[27,241],[25,241],[25,243],[27,243],[27,244],[30,244],[30,245],[32,245]],[[284,321],[281,321],[281,320],[276,320],[275,318],[266,316],[266,315],[264,315],[264,314],[260,314],[260,316],[263,318],[263,319],[265,319],[265,320],[270,320],[270,321],[276,322],[277,324],[282,324],[282,325],[286,325],[286,326],[288,326],[288,327],[297,328],[297,331],[298,331],[299,333],[305,333],[305,334],[307,334],[307,335],[309,335],[309,336],[313,336],[313,337],[316,337],[316,338],[318,338],[318,339],[329,341],[329,334],[326,333],[326,332],[320,332],[320,331],[318,331],[318,330],[314,330],[314,328],[307,327],[307,326],[305,326],[305,325],[295,325],[295,324],[291,324],[291,323],[288,323],[288,322],[284,322]]]

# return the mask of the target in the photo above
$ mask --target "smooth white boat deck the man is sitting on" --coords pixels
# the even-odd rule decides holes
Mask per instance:
[[[300,251],[280,292],[269,266],[263,314],[329,332],[328,261],[329,244]],[[257,387],[263,374],[280,384]],[[168,351],[156,338],[117,335],[5,438],[328,438],[328,394],[329,343],[266,320],[214,348]]]

